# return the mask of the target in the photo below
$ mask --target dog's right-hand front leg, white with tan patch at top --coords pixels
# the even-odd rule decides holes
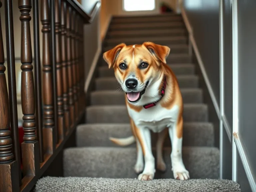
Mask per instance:
[[[189,172],[186,170],[182,160],[182,134],[183,134],[183,118],[179,118],[174,125],[169,128],[169,135],[172,141],[172,170],[175,179],[189,179]]]

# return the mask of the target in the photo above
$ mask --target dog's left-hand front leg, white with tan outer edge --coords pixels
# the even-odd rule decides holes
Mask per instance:
[[[144,155],[145,166],[143,172],[138,176],[138,180],[152,180],[155,175],[155,158],[151,149],[151,135],[147,128],[135,127],[136,135],[139,139]]]

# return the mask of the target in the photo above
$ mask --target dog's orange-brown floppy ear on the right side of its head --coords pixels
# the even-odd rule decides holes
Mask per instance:
[[[170,48],[163,45],[157,45],[152,42],[144,42],[143,45],[150,51],[150,53],[156,58],[160,59],[163,63],[166,63],[166,58],[170,53]]]

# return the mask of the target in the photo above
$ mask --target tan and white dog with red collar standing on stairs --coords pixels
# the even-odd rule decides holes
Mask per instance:
[[[166,64],[169,52],[167,46],[144,42],[142,45],[129,46],[122,43],[103,54],[108,67],[114,68],[115,77],[126,93],[133,133],[128,138],[110,139],[123,146],[136,141],[137,161],[134,169],[137,173],[142,172],[138,176],[139,180],[152,180],[155,174],[150,130],[158,133],[157,169],[166,169],[162,151],[169,132],[174,178],[189,179],[189,172],[182,160],[183,101],[176,76]]]

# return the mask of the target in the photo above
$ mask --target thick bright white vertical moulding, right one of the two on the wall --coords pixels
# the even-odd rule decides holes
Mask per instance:
[[[232,180],[237,181],[237,147],[235,138],[239,131],[238,120],[238,21],[237,0],[231,0],[232,5],[232,68],[233,68],[233,137],[232,137]]]

